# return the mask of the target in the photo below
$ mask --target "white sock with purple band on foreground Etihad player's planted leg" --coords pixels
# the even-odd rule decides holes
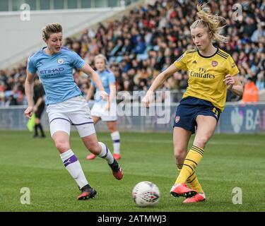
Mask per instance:
[[[69,174],[71,174],[71,176],[76,181],[80,189],[82,189],[83,186],[88,184],[86,176],[83,173],[81,164],[71,149],[67,150],[65,153],[62,153],[60,157],[61,160],[64,162],[64,166],[68,170]]]

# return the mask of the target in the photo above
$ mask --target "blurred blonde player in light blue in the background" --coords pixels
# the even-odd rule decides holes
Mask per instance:
[[[96,93],[95,93],[95,104],[91,109],[91,115],[93,117],[94,124],[96,124],[100,119],[102,121],[106,121],[107,128],[110,131],[110,136],[112,137],[113,143],[113,157],[115,160],[119,160],[121,158],[120,155],[120,136],[119,131],[117,130],[117,104],[116,104],[116,85],[115,85],[115,77],[114,74],[107,69],[107,59],[104,55],[98,54],[95,57],[95,68],[97,69],[97,73],[100,76],[102,81],[102,85],[110,95],[110,101],[102,100],[100,98],[100,90],[98,86],[92,81],[90,84],[90,88],[88,90],[88,94],[86,95],[86,100],[90,100],[91,96],[94,93],[95,86],[96,86]],[[87,160],[93,160],[96,157],[93,153],[86,157]]]

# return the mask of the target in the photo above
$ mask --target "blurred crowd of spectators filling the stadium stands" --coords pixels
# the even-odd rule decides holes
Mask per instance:
[[[201,2],[201,1],[199,1]],[[223,35],[228,43],[219,47],[231,54],[240,69],[243,84],[255,89],[265,86],[265,1],[211,1],[208,6],[227,20]],[[76,39],[66,38],[64,46],[73,49],[93,66],[97,54],[105,54],[116,77],[117,91],[147,90],[155,76],[172,64],[187,49],[194,49],[189,25],[197,19],[196,1],[158,0],[139,6],[120,20],[97,30],[88,28]],[[242,6],[242,15],[240,7]],[[218,44],[216,43],[216,46]],[[26,64],[0,70],[0,107],[25,104]],[[74,79],[83,93],[88,91],[88,76],[74,71]],[[182,93],[188,74],[183,71],[167,79],[163,90]],[[247,85],[246,87],[249,87]],[[178,101],[179,95],[173,101]],[[238,97],[228,93],[227,101]]]

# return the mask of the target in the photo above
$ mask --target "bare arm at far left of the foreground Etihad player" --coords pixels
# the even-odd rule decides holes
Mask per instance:
[[[28,107],[25,109],[25,116],[30,118],[33,114],[33,85],[34,85],[35,74],[27,71],[27,78],[25,79],[25,96],[27,97]]]

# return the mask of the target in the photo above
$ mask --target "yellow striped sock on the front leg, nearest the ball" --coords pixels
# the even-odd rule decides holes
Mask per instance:
[[[194,173],[203,155],[203,149],[198,148],[194,145],[192,146],[192,149],[189,150],[189,153],[184,160],[182,170],[180,171],[179,177],[177,177],[175,184],[182,184],[187,181],[187,179]]]

